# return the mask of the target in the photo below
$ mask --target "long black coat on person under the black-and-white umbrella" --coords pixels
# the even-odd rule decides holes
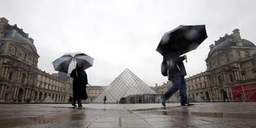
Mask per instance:
[[[77,77],[78,75],[78,77]],[[73,77],[73,98],[74,100],[86,100],[88,98],[86,85],[88,84],[87,74],[85,70],[76,68],[73,69],[70,77]]]

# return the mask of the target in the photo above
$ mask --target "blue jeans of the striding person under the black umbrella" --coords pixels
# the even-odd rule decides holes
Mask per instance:
[[[186,80],[184,76],[177,76],[171,79],[171,82],[173,83],[173,86],[169,88],[169,90],[162,95],[162,100],[169,99],[174,93],[179,90],[179,93],[181,94],[181,105],[187,104],[187,85]]]

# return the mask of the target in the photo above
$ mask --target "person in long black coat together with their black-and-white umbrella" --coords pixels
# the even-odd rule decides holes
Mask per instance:
[[[82,107],[81,100],[88,98],[86,87],[88,85],[87,74],[85,69],[93,66],[93,58],[84,53],[66,53],[60,58],[53,61],[54,70],[70,73],[73,78],[73,106],[77,101],[79,107]],[[74,63],[73,63],[74,62]],[[77,62],[75,64],[75,62]],[[71,64],[73,63],[73,64]]]

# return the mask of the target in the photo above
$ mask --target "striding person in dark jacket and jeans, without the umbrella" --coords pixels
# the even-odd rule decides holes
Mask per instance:
[[[181,95],[181,106],[192,106],[194,104],[187,103],[187,85],[184,78],[187,73],[184,63],[182,62],[187,59],[187,56],[184,55],[179,57],[179,54],[181,53],[178,50],[176,43],[170,45],[170,49],[171,52],[166,52],[166,56],[163,58],[161,69],[167,69],[168,80],[171,80],[173,86],[161,96],[161,104],[165,107],[166,100],[168,100],[171,96],[174,95],[174,93],[177,92],[177,90],[179,90]],[[163,67],[166,65],[164,63],[167,64],[167,68]]]

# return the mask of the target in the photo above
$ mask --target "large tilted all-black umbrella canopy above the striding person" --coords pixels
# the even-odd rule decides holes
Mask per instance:
[[[177,45],[181,53],[196,49],[207,38],[205,25],[179,25],[179,27],[164,33],[156,51],[165,56],[171,51],[172,44]]]

